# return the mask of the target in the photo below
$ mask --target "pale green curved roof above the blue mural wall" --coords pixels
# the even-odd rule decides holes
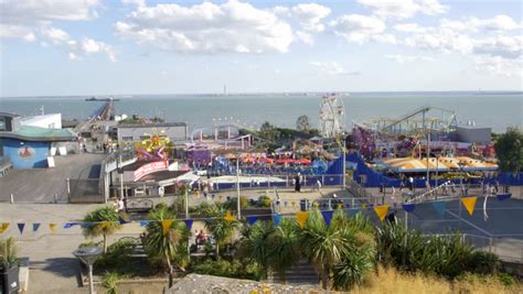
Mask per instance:
[[[14,132],[0,132],[2,139],[19,139],[24,141],[74,141],[76,134],[67,129],[46,129],[32,126],[21,126]]]

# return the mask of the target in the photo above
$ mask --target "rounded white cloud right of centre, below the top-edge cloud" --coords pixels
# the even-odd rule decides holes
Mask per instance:
[[[337,35],[360,44],[385,31],[385,23],[382,20],[360,14],[342,15],[331,21],[329,25]]]

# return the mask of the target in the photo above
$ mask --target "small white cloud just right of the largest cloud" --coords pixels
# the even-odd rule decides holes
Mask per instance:
[[[309,32],[323,32],[324,25],[321,20],[327,18],[331,10],[317,3],[301,3],[292,7],[292,17],[296,18],[303,30]]]

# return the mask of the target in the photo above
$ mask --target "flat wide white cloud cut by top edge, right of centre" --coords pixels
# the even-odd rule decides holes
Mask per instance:
[[[418,12],[435,15],[448,10],[448,7],[439,3],[439,0],[357,0],[357,2],[371,8],[374,14],[383,19],[408,19]]]

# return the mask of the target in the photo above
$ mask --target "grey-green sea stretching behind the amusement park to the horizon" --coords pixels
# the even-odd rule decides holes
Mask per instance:
[[[160,117],[168,122],[186,122],[191,130],[199,130],[230,122],[258,128],[265,121],[292,128],[302,115],[309,117],[312,126],[318,126],[323,95],[127,95],[113,98],[119,99],[115,102],[117,115]],[[109,96],[97,96],[106,97]],[[90,96],[0,97],[0,112],[20,116],[60,112],[67,120],[87,119],[103,102],[85,101],[86,98]],[[420,107],[434,107],[430,112],[434,117],[453,111],[459,123],[490,127],[494,132],[523,126],[521,91],[351,92],[339,95],[339,105],[345,109],[346,129],[354,122],[397,119]]]

